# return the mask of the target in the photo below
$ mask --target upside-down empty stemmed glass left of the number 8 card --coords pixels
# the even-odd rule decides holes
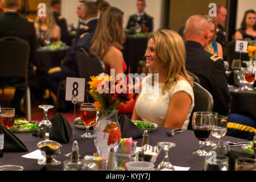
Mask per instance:
[[[51,132],[52,123],[48,120],[48,109],[52,109],[52,105],[39,105],[39,108],[44,110],[44,119],[38,125],[38,138],[46,140]],[[47,138],[46,138],[47,136]]]

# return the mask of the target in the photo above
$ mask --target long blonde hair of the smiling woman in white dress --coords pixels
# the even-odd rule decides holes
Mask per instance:
[[[184,41],[175,31],[162,29],[153,32],[148,41],[155,41],[155,58],[160,66],[166,69],[163,82],[162,92],[170,89],[176,84],[179,75],[184,77],[191,86],[193,86],[193,78],[188,75],[185,68],[186,50]],[[150,69],[151,73],[157,73],[155,69]],[[152,80],[154,80],[154,74]]]

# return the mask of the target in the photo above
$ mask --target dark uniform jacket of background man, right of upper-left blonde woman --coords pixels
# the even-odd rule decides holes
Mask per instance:
[[[60,16],[58,13],[53,11],[53,17],[55,19],[55,22],[57,26],[60,27],[60,40],[64,43],[66,43],[68,46],[71,46],[72,44],[72,36],[68,32],[68,26],[67,26],[67,21],[63,16]]]

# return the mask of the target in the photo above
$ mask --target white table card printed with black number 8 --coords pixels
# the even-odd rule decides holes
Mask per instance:
[[[76,96],[78,102],[84,102],[85,78],[67,77],[66,81],[66,101],[72,101]]]

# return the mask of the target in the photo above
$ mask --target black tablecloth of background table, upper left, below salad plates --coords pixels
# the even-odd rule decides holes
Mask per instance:
[[[39,69],[43,72],[48,72],[50,68],[60,65],[69,48],[69,46],[61,47],[56,50],[44,47],[38,48],[36,56]]]

